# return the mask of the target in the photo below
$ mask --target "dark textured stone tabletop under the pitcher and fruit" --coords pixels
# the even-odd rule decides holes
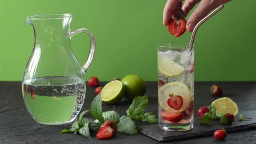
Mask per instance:
[[[106,84],[105,82],[101,85]],[[237,102],[240,112],[256,110],[256,82],[196,82],[195,83],[195,112],[199,107],[209,105],[217,97],[211,96],[210,87],[221,85],[224,96]],[[95,94],[94,89],[87,86],[85,102],[82,110],[89,109]],[[146,111],[157,115],[157,82],[147,82],[147,96],[149,106]],[[117,110],[120,115],[125,114],[131,102],[122,101],[120,104],[103,104],[103,111]],[[195,115],[197,117],[197,115]],[[145,123],[136,123],[145,125]],[[21,82],[0,82],[0,144],[157,144],[160,143],[143,134],[126,135],[117,133],[110,140],[96,139],[96,133],[91,133],[91,139],[72,133],[60,134],[63,128],[70,125],[41,125],[36,123],[27,112],[21,94]],[[168,142],[170,143],[170,142]],[[256,129],[228,133],[224,141],[213,136],[197,139],[173,141],[175,144],[256,144]]]

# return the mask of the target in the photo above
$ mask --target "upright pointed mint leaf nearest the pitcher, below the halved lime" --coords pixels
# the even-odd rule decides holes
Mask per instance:
[[[104,118],[102,115],[102,101],[101,101],[101,93],[99,93],[92,101],[91,103],[91,114],[93,117],[97,120],[99,120],[100,123],[104,123]]]

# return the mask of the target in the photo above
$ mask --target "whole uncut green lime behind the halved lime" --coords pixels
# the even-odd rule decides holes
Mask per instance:
[[[145,81],[137,75],[127,75],[123,78],[122,84],[125,88],[125,98],[134,99],[136,96],[144,96],[146,92]]]

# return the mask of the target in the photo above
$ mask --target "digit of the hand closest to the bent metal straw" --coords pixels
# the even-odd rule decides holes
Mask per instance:
[[[197,6],[195,11],[191,14],[187,21],[187,30],[192,32],[195,28],[195,25],[202,20],[208,13],[210,13],[214,8],[217,8],[219,5],[227,3],[231,0],[202,0]]]

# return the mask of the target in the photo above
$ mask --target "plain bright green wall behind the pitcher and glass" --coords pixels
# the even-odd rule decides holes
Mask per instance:
[[[157,44],[188,43],[191,33],[173,37],[162,24],[166,0],[0,0],[0,80],[22,80],[34,45],[31,14],[73,13],[71,28],[96,37],[96,54],[85,79],[136,74],[157,80]],[[206,21],[195,38],[195,80],[256,80],[256,0],[233,0]],[[72,39],[80,64],[89,51],[87,35]]]

